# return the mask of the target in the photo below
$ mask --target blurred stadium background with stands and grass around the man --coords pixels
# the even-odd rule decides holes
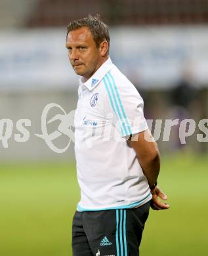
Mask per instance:
[[[68,63],[66,26],[96,13],[110,26],[110,56],[143,96],[147,119],[208,118],[207,0],[0,0],[2,256],[72,255],[79,200],[73,145],[57,154],[35,134],[47,104],[75,109],[78,77]],[[16,142],[22,118],[31,119],[30,138]],[[8,148],[4,119],[13,125]],[[49,127],[51,133],[57,126]],[[150,212],[144,256],[207,254],[208,143],[198,142],[197,133],[181,144],[175,125],[169,142],[162,135],[158,140],[159,184],[172,207]],[[54,144],[63,148],[68,137]]]

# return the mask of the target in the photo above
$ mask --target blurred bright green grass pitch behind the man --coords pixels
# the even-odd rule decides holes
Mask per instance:
[[[207,255],[207,166],[207,156],[163,158],[159,185],[171,209],[150,211],[142,256]],[[75,163],[1,163],[0,255],[71,256],[78,200]]]

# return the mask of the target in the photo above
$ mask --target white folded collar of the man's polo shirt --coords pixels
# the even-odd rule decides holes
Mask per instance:
[[[109,57],[108,60],[106,60],[87,81],[85,81],[84,77],[81,77],[79,79],[79,85],[81,87],[85,86],[89,91],[92,91],[94,87],[102,81],[102,78],[113,68],[113,66],[114,64]]]

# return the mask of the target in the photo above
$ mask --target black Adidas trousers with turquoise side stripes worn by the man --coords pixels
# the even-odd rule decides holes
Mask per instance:
[[[133,209],[76,211],[73,256],[137,256],[150,202]]]

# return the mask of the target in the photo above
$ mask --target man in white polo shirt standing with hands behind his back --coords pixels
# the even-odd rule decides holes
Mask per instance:
[[[167,196],[157,187],[159,152],[142,98],[112,63],[109,47],[108,27],[98,16],[68,26],[68,56],[81,75],[75,111],[81,200],[73,217],[73,256],[138,255],[150,202],[169,208],[158,199]]]

